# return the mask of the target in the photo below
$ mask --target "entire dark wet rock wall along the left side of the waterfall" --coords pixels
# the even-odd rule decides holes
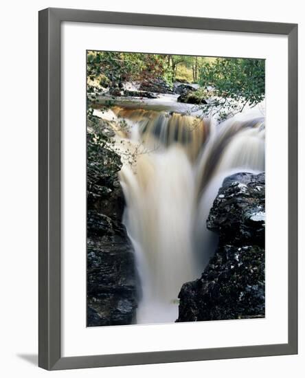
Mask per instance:
[[[120,157],[88,134],[87,325],[124,325],[135,319],[134,252],[122,224]]]

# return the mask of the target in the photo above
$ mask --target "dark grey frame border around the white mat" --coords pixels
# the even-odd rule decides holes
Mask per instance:
[[[288,344],[119,355],[60,355],[60,23],[286,34],[289,39]],[[39,12],[39,358],[47,370],[297,354],[297,25],[49,8]]]

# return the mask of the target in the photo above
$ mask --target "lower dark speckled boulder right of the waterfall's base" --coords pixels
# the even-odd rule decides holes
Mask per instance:
[[[179,322],[264,317],[264,249],[223,245],[179,293]]]

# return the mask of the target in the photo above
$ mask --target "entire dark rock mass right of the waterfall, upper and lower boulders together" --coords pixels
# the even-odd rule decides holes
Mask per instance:
[[[207,227],[218,248],[201,278],[181,288],[177,322],[264,318],[264,173],[227,177]]]

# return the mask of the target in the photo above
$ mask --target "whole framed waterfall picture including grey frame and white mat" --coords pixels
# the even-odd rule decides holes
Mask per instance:
[[[297,25],[39,12],[39,366],[297,353]]]

